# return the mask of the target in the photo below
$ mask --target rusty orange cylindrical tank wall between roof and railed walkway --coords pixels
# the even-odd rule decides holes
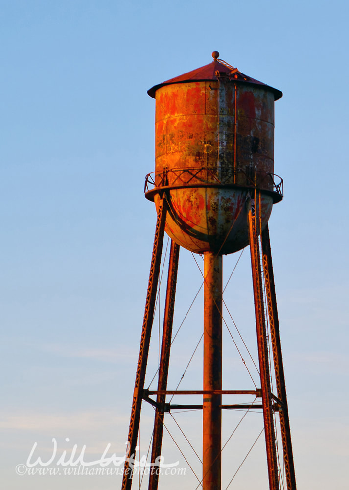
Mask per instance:
[[[272,92],[227,77],[166,85],[156,92],[156,172],[218,166],[224,174],[235,159],[236,167],[273,173]]]

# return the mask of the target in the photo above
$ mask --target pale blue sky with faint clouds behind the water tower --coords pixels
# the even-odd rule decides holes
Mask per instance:
[[[119,478],[63,482],[14,468],[35,441],[49,455],[53,437],[68,451],[73,441],[91,455],[108,442],[124,451],[155,226],[143,196],[154,168],[146,91],[209,63],[215,49],[284,94],[275,172],[285,197],[270,234],[296,476],[300,490],[346,488],[348,13],[339,0],[0,1],[3,488],[119,487]],[[227,294],[254,345],[248,253]],[[227,277],[235,262],[227,258]],[[189,254],[179,274],[177,326],[200,285]],[[195,308],[173,384],[202,328]],[[228,382],[241,366],[229,347],[227,358]],[[200,380],[193,362],[190,379]],[[151,417],[144,410],[145,434]],[[243,457],[230,451],[227,466]],[[246,467],[262,460],[264,472],[258,451]]]

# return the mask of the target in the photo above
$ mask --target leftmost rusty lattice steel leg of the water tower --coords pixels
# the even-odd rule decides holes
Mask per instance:
[[[163,197],[158,207],[158,216],[155,228],[153,254],[151,259],[147,297],[145,301],[142,334],[140,338],[140,352],[136,371],[135,389],[133,392],[130,428],[128,433],[128,447],[122,477],[122,490],[130,490],[133,476],[133,461],[135,458],[138,430],[140,426],[140,409],[142,405],[145,371],[148,361],[150,334],[153,325],[156,292],[160,272],[161,254],[163,249],[163,235],[166,221],[166,198]]]

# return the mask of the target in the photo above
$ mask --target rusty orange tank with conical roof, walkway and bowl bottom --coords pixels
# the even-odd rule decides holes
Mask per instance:
[[[274,175],[274,102],[282,92],[218,56],[148,91],[156,99],[155,172],[145,196],[158,207],[166,194],[166,232],[195,253],[244,248],[247,200],[263,228],[282,199]]]

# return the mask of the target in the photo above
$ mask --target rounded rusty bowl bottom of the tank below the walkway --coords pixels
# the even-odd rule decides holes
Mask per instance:
[[[171,189],[167,192],[166,233],[178,245],[194,253],[237,252],[249,244],[248,196],[247,189],[238,188]],[[263,229],[272,211],[273,198],[261,191],[260,198],[258,193],[256,200],[255,207]],[[156,194],[154,202],[157,209],[159,201],[160,196]]]

